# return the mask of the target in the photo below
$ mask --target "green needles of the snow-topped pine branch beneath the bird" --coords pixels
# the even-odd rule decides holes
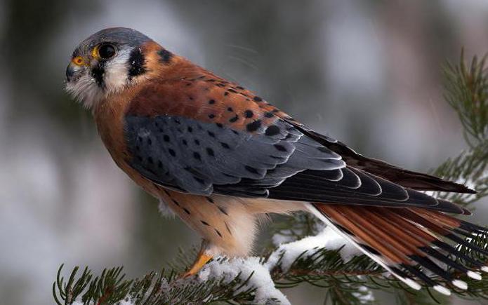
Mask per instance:
[[[488,249],[488,236],[477,236],[470,241],[484,249]],[[466,247],[460,247],[461,252],[474,257]],[[361,255],[345,262],[341,255],[341,248],[337,250],[317,249],[303,253],[292,262],[289,269],[280,268],[279,261],[267,266],[268,257],[261,259],[254,268],[270,269],[271,278],[277,288],[289,288],[309,283],[318,287],[327,288],[327,298],[333,304],[369,304],[371,302],[370,290],[385,290],[389,292],[402,291],[404,299],[416,300],[419,293],[432,294],[434,299],[442,299],[435,292],[417,292],[405,287],[399,280],[385,276],[385,271],[368,257]],[[213,268],[235,268],[230,265],[232,261],[220,259],[213,262]],[[211,263],[212,264],[212,263]],[[121,268],[104,270],[100,277],[93,278],[91,271],[85,269],[77,278],[78,268],[71,273],[65,283],[60,276],[62,266],[58,271],[58,278],[53,285],[53,294],[58,305],[70,304],[117,304],[120,301],[130,301],[126,304],[217,304],[225,301],[228,304],[255,304],[259,285],[256,285],[254,273],[237,273],[231,278],[192,278],[182,279],[176,272],[161,271],[149,273],[143,278],[124,280]],[[449,270],[451,273],[455,271]],[[431,277],[444,285],[442,278]],[[472,280],[461,276],[469,287],[468,290],[459,290],[451,287],[454,294],[469,299],[488,299],[488,278]],[[88,287],[88,289],[86,288]],[[426,288],[427,289],[427,288]],[[427,290],[425,290],[427,291]],[[74,303],[74,300],[81,300]],[[262,300],[262,299],[261,299]],[[267,299],[268,304],[282,304],[278,299]],[[404,301],[404,300],[403,300]],[[261,304],[261,301],[259,302]],[[409,304],[404,303],[402,304]],[[417,304],[417,303],[411,303]]]

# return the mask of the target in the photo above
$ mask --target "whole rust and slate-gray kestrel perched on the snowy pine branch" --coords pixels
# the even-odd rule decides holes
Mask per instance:
[[[259,219],[298,211],[416,290],[466,289],[447,268],[488,272],[452,245],[484,257],[466,237],[487,229],[425,192],[473,189],[363,156],[141,32],[112,27],[81,41],[65,89],[90,109],[119,168],[202,237],[184,276],[214,257],[251,255]]]

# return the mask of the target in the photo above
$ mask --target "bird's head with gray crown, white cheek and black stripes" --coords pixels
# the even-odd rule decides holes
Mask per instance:
[[[66,90],[86,107],[93,105],[147,74],[144,34],[125,27],[103,29],[81,41],[66,69]],[[162,49],[162,48],[161,48]]]

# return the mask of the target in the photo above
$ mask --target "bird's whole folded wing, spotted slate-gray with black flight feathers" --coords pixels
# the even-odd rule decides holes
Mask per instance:
[[[285,121],[275,126],[279,132],[266,135],[181,116],[127,116],[129,164],[154,183],[191,194],[463,212],[345,165]]]

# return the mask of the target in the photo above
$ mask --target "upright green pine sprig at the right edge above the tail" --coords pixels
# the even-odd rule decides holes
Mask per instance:
[[[445,100],[457,112],[470,149],[449,158],[434,172],[444,179],[467,184],[477,194],[436,194],[437,197],[468,205],[488,196],[488,72],[487,55],[473,57],[469,67],[461,51],[460,64],[444,69]]]

